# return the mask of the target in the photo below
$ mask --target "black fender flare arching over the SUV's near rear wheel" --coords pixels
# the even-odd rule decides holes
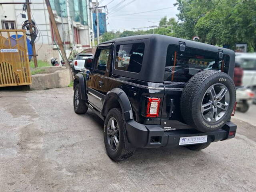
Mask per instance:
[[[108,101],[112,98],[116,99],[120,104],[124,120],[128,121],[133,119],[132,106],[130,104],[130,100],[128,99],[126,93],[120,88],[114,88],[106,94],[102,108],[102,116],[106,116],[108,112],[106,106],[108,104]]]

